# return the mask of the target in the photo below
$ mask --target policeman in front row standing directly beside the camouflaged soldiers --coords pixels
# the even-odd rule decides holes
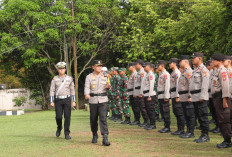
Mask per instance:
[[[131,62],[128,64],[128,70],[131,72],[131,75],[129,77],[129,81],[127,84],[127,91],[128,91],[128,95],[129,95],[130,106],[131,106],[132,111],[134,113],[134,122],[132,122],[130,124],[138,125],[139,124],[140,108],[139,108],[139,106],[135,105],[136,99],[133,97],[134,83],[135,83],[135,79],[136,79],[136,75],[137,75],[137,71],[136,71],[135,66],[136,66],[135,62]]]

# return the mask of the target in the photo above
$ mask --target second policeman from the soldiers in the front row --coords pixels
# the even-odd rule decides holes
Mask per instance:
[[[146,111],[146,107],[144,104],[144,98],[143,98],[143,82],[146,76],[146,72],[143,69],[143,60],[138,59],[136,62],[136,69],[138,70],[137,75],[136,75],[136,80],[134,84],[134,98],[136,99],[135,101],[135,106],[136,108],[139,106],[140,111],[143,116],[144,123],[139,124],[140,127],[144,127],[148,123],[148,115]],[[140,119],[140,114],[138,115]]]

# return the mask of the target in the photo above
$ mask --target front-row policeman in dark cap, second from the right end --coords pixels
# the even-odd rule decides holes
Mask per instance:
[[[196,143],[210,140],[208,136],[209,70],[203,64],[203,57],[201,52],[194,52],[192,56],[192,63],[196,68],[193,70],[190,81],[190,93],[201,128],[201,136],[194,140]]]

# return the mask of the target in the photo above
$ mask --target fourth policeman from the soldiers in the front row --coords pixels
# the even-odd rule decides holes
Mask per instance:
[[[160,71],[159,80],[158,80],[158,99],[160,103],[160,110],[163,112],[164,118],[164,128],[159,130],[160,133],[168,133],[170,132],[170,106],[169,106],[169,98],[170,98],[170,74],[165,69],[165,61],[159,60],[157,62],[157,69]]]

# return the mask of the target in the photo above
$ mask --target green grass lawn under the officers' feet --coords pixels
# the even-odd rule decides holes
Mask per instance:
[[[222,142],[219,134],[210,133],[211,141],[196,144],[193,139],[180,139],[157,131],[146,131],[138,126],[121,125],[108,120],[110,147],[91,144],[92,134],[89,125],[89,112],[72,111],[71,140],[56,138],[54,111],[27,113],[21,116],[0,117],[0,156],[1,157],[83,157],[83,156],[232,156],[232,148],[217,149]],[[176,130],[176,120],[172,114],[172,131]],[[211,125],[211,128],[213,126]],[[100,133],[99,133],[100,134]],[[200,131],[195,131],[196,137]]]

